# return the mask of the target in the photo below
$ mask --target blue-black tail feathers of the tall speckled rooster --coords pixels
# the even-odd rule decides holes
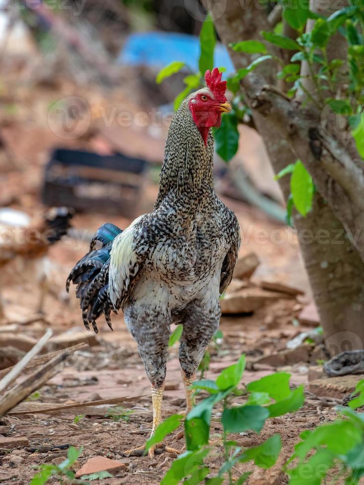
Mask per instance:
[[[87,330],[91,324],[95,333],[99,332],[96,320],[101,314],[112,330],[110,315],[111,311],[116,313],[116,309],[108,294],[110,250],[113,240],[121,232],[110,223],[99,228],[91,241],[90,252],[78,261],[67,278],[66,290],[69,291],[71,282],[77,285],[76,296],[80,299],[83,323]],[[103,244],[100,249],[95,249],[97,241]]]

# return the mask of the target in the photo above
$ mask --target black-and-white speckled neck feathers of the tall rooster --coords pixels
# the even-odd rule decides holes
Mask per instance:
[[[188,106],[192,96],[183,101],[169,126],[155,208],[171,190],[195,197],[203,187],[213,191],[213,137],[209,130],[205,145]]]

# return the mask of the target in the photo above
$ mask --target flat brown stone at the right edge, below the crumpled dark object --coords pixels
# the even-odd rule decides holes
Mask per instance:
[[[340,399],[353,392],[362,379],[364,379],[364,374],[316,379],[310,382],[309,390],[319,397],[337,397]]]

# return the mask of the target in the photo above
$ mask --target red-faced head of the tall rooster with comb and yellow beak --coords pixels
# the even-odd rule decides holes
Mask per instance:
[[[222,72],[215,67],[212,72],[205,73],[206,88],[202,88],[190,98],[188,107],[197,128],[207,143],[208,130],[212,126],[220,126],[221,113],[231,110],[231,105],[225,97],[226,81],[221,81]]]

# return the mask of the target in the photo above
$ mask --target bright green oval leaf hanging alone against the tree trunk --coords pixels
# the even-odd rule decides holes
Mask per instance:
[[[291,194],[296,209],[305,217],[312,208],[313,182],[301,160],[297,160],[292,172]]]

